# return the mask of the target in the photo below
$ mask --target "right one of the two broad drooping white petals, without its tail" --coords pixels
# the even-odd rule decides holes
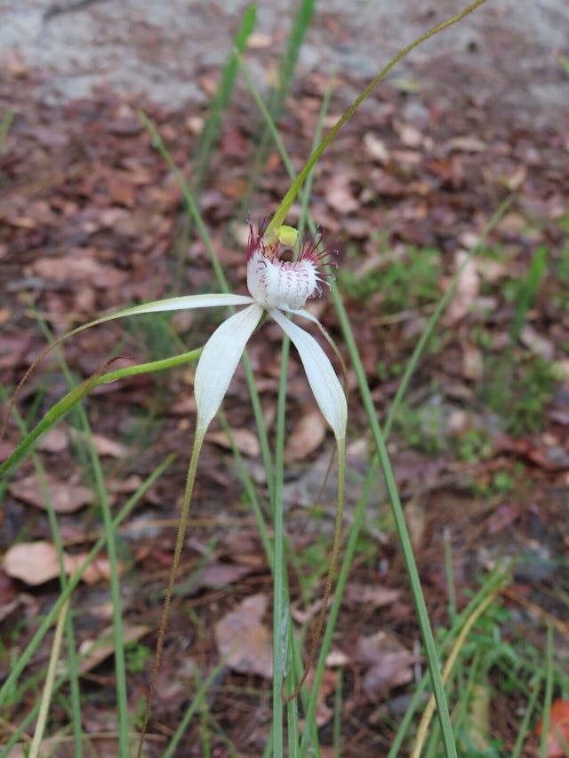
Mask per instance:
[[[322,347],[317,340],[289,321],[286,316],[280,313],[276,308],[269,311],[276,323],[287,334],[294,347],[299,351],[304,371],[306,371],[309,385],[312,389],[318,407],[322,415],[333,428],[333,433],[337,439],[343,439],[346,436],[346,421],[348,419],[348,403],[346,395],[341,388],[340,381],[333,370],[332,363],[328,360]]]

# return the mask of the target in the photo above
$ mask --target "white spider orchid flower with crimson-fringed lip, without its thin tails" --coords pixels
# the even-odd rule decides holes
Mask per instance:
[[[336,439],[341,440],[346,434],[348,409],[346,397],[332,363],[317,340],[284,315],[301,315],[317,323],[323,330],[317,318],[304,310],[304,306],[309,298],[321,294],[320,285],[325,282],[326,276],[323,266],[329,258],[329,251],[318,251],[319,239],[316,238],[301,245],[297,259],[283,260],[283,251],[294,247],[296,243],[296,229],[278,227],[268,235],[263,235],[262,224],[259,224],[257,230],[253,229],[252,225],[249,229],[247,287],[250,296],[188,295],[134,306],[113,317],[186,308],[247,306],[244,310],[230,315],[218,326],[205,343],[197,363],[194,382],[197,405],[196,437],[203,439],[207,427],[219,411],[247,341],[262,317],[268,314],[298,350],[318,407],[333,428]]]

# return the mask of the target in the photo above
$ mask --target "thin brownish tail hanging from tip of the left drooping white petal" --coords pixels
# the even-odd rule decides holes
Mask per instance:
[[[158,629],[158,640],[156,642],[156,653],[154,656],[154,663],[152,665],[152,674],[150,675],[150,687],[148,689],[148,699],[146,704],[146,710],[144,713],[144,721],[142,723],[142,729],[140,730],[140,739],[137,752],[137,758],[141,758],[142,747],[144,744],[144,738],[148,730],[148,721],[150,720],[150,711],[152,709],[152,701],[156,692],[156,680],[158,677],[158,671],[160,669],[160,663],[162,661],[162,652],[164,649],[164,637],[166,634],[166,627],[168,626],[168,616],[170,613],[170,605],[172,602],[172,592],[174,583],[176,581],[176,575],[180,566],[181,551],[184,547],[184,539],[186,537],[186,524],[188,523],[189,504],[191,503],[192,493],[194,491],[194,483],[196,482],[197,463],[199,461],[200,452],[202,451],[202,445],[204,444],[205,429],[196,429],[194,436],[194,446],[192,448],[192,455],[189,459],[188,476],[186,479],[186,490],[184,491],[184,500],[181,507],[180,523],[178,524],[178,534],[176,536],[176,546],[174,547],[174,555],[172,558],[172,570],[170,571],[170,578],[168,579],[168,586],[166,588],[166,594],[164,597],[164,605],[162,606],[162,617],[160,618],[160,627]]]

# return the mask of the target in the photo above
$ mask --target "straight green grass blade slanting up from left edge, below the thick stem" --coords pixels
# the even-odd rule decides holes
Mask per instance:
[[[165,469],[170,466],[174,458],[175,456],[171,455],[165,459],[164,462],[160,464],[160,466],[156,467],[156,470],[153,471],[150,476],[148,476],[148,479],[140,486],[139,490],[136,491],[132,497],[126,501],[124,507],[121,508],[119,514],[111,524],[113,533],[118,529],[120,524],[124,522],[124,519],[132,512],[132,509],[140,501],[140,498],[142,498],[142,496],[145,495],[150,487],[152,487],[152,485],[156,482],[156,479],[164,474]],[[36,652],[39,644],[44,639],[44,636],[47,634],[50,626],[52,626],[53,620],[59,616],[64,602],[68,601],[69,597],[73,593],[73,590],[81,581],[85,570],[88,569],[97,555],[99,555],[100,550],[105,547],[107,540],[107,534],[103,534],[100,539],[97,540],[92,549],[89,551],[89,555],[87,555],[79,569],[77,569],[76,572],[69,577],[68,585],[61,591],[60,596],[56,602],[53,603],[52,609],[45,614],[42,623],[36,631],[36,634],[34,634],[30,642],[28,642],[26,650],[24,650],[24,652],[21,654],[18,661],[13,664],[12,668],[10,669],[10,674],[8,674],[4,684],[0,688],[0,707],[4,705],[5,699],[10,697],[14,685],[20,677],[20,674],[26,668],[26,666],[28,666],[28,663]]]

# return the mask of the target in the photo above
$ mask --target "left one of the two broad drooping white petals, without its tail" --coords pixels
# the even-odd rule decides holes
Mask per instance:
[[[204,435],[243,355],[247,340],[260,321],[263,309],[257,303],[229,316],[207,340],[200,355],[194,381],[197,404],[196,435]]]

